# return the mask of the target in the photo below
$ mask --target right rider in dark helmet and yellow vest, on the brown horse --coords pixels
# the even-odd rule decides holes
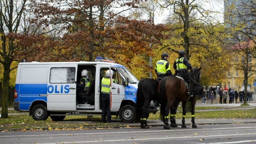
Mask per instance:
[[[187,94],[188,96],[193,96],[194,82],[193,80],[190,80],[188,76],[188,69],[190,69],[190,72],[191,72],[192,66],[188,61],[188,59],[185,57],[184,50],[180,50],[179,55],[180,56],[176,58],[173,64],[173,68],[175,69],[175,74],[184,78],[185,81],[190,82]]]

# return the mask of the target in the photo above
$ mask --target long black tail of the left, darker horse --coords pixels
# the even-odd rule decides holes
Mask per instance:
[[[144,80],[140,80],[138,84],[138,90],[137,90],[137,98],[136,98],[136,105],[135,105],[135,113],[136,113],[136,120],[140,120],[141,112],[142,112],[142,106],[144,105],[144,95],[142,92],[142,84]]]

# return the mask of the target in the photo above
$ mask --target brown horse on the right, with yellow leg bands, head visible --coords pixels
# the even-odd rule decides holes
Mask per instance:
[[[200,78],[200,69],[201,68],[193,68],[192,72],[189,72],[190,77],[196,81],[199,82]],[[164,122],[164,129],[170,129],[171,126],[168,125],[168,119],[169,119],[169,111],[170,108],[173,106],[174,101],[182,102],[182,128],[186,128],[185,125],[185,117],[186,117],[186,102],[191,101],[191,114],[192,114],[192,128],[196,128],[195,124],[195,105],[196,105],[196,94],[197,95],[203,95],[203,88],[200,86],[200,84],[196,83],[194,84],[194,96],[190,97],[186,94],[188,89],[186,88],[184,82],[175,77],[175,76],[166,76],[160,81],[160,84],[158,86],[159,92],[160,92],[160,117],[161,120]]]

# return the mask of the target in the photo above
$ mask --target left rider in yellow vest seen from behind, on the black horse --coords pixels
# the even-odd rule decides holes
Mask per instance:
[[[157,80],[160,82],[166,76],[172,76],[170,64],[168,62],[169,55],[164,52],[161,55],[161,60],[156,62],[155,72],[157,74]]]

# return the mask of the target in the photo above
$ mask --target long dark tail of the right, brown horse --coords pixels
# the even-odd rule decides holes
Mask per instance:
[[[167,106],[167,98],[166,98],[166,88],[165,88],[166,78],[162,79],[159,86],[160,93],[160,119],[164,120],[165,108]]]

